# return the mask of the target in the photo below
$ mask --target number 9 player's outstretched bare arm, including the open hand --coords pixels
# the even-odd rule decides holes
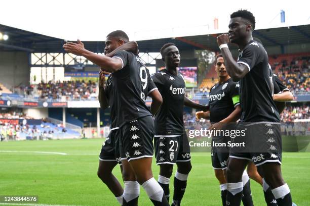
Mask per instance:
[[[84,44],[79,39],[78,43],[68,42],[63,45],[63,48],[68,53],[85,57],[99,67],[104,68],[106,72],[116,72],[122,69],[123,66],[122,61],[118,58],[100,56],[85,49]]]

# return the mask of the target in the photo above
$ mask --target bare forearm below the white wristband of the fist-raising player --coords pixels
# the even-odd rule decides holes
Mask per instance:
[[[221,48],[221,53],[224,57],[226,70],[234,82],[238,82],[249,72],[249,69],[245,65],[238,64],[234,58],[232,58],[229,48]]]

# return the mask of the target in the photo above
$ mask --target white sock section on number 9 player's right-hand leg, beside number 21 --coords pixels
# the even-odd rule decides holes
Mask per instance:
[[[153,177],[145,181],[141,186],[143,187],[150,199],[159,202],[162,201],[164,190]]]

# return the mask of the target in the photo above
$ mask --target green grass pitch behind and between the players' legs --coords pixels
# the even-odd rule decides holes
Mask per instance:
[[[118,205],[97,177],[102,142],[103,139],[0,142],[0,195],[38,195],[39,205]],[[221,205],[210,153],[191,155],[192,171],[182,205]],[[310,153],[283,153],[282,172],[298,206],[310,205],[309,169]],[[155,163],[152,170],[157,179],[159,167]],[[118,166],[113,173],[122,180]],[[173,191],[173,177],[171,182]],[[251,188],[254,204],[265,205],[261,186],[251,181]],[[152,205],[142,188],[140,191],[139,205]]]

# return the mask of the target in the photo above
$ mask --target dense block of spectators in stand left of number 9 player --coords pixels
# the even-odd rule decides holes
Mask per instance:
[[[61,98],[66,96],[70,99],[91,99],[97,97],[97,83],[91,81],[57,81],[55,83],[39,83],[36,86],[37,95],[40,98]]]

